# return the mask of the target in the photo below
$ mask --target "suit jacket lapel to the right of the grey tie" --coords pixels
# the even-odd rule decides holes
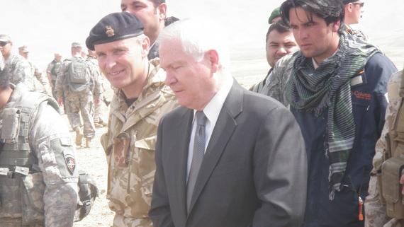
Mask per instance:
[[[209,141],[205,156],[203,157],[198,179],[193,189],[191,211],[237,127],[235,118],[242,112],[242,95],[242,88],[234,81],[230,93],[225,103],[223,103],[222,110],[220,110],[218,121],[215,124],[211,140]]]

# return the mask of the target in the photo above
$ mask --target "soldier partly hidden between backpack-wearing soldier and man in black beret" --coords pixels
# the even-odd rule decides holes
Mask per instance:
[[[87,54],[87,60],[91,63],[94,64],[94,67],[97,69],[97,74],[98,76],[98,81],[101,86],[101,91],[99,95],[99,100],[104,100],[104,102],[107,103],[105,96],[103,93],[106,91],[103,83],[103,75],[101,74],[101,71],[99,71],[99,62],[97,61],[97,55],[94,50],[88,50],[89,54]],[[106,127],[106,121],[103,120],[103,115],[101,113],[101,102],[94,100],[94,125],[96,127]]]

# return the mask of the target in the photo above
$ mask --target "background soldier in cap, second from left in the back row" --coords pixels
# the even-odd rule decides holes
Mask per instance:
[[[38,66],[33,64],[33,62],[31,62],[28,59],[28,53],[29,53],[29,51],[28,51],[27,46],[18,47],[18,54],[20,54],[23,58],[25,58],[28,61],[28,63],[30,64],[30,69],[31,69],[31,76],[29,77],[30,81],[26,81],[26,83],[28,84],[28,88],[30,89],[30,91],[41,91],[41,92],[45,92],[50,95],[51,92],[50,92],[49,81],[47,81],[47,78],[45,78],[42,71],[40,71],[40,69],[38,69]],[[37,85],[35,84],[35,81],[34,81],[35,78],[41,83],[42,88],[37,87]]]

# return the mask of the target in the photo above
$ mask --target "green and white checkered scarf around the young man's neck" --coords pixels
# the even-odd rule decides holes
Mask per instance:
[[[313,111],[316,117],[327,110],[325,153],[330,161],[330,200],[341,182],[355,139],[351,79],[363,71],[377,48],[349,35],[340,35],[339,50],[314,69],[311,58],[299,52],[286,85],[286,98],[299,111]]]

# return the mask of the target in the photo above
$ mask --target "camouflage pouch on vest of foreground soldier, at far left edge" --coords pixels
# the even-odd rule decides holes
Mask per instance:
[[[16,143],[18,131],[20,129],[20,110],[16,108],[6,108],[3,110],[3,127],[1,127],[1,139]]]

